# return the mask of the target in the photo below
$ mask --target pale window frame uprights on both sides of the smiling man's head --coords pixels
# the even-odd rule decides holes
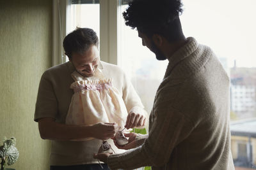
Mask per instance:
[[[52,0],[52,66],[66,62],[62,42],[70,30],[70,0]],[[118,64],[120,1],[100,0],[100,59]]]

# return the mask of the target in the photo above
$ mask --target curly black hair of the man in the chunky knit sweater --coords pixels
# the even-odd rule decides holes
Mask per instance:
[[[183,36],[179,19],[182,11],[180,0],[133,0],[123,16],[125,24],[132,29],[149,38],[160,34],[172,42]]]

